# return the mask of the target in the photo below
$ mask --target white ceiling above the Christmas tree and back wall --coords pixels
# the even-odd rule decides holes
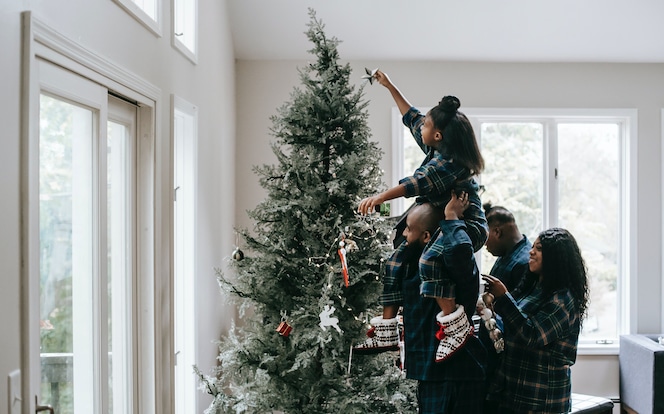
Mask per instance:
[[[662,0],[227,0],[237,59],[310,59],[308,8],[344,60],[664,62]]]

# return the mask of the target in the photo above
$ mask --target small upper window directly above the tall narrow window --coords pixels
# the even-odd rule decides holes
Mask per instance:
[[[198,56],[198,1],[173,0],[173,47],[193,63]]]

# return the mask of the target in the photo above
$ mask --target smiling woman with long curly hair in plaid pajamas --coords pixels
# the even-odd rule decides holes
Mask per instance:
[[[570,367],[588,308],[586,266],[574,236],[561,228],[541,232],[514,292],[493,276],[484,279],[485,298],[505,330],[488,399],[497,400],[503,414],[569,412]]]

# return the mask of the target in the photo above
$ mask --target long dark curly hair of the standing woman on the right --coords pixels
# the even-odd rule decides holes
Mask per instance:
[[[586,263],[572,234],[554,227],[539,234],[542,245],[542,288],[552,294],[569,289],[581,320],[588,310],[589,290]]]

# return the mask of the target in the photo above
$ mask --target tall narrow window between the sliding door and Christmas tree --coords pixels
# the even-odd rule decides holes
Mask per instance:
[[[196,141],[198,109],[173,98],[175,412],[196,412]]]

